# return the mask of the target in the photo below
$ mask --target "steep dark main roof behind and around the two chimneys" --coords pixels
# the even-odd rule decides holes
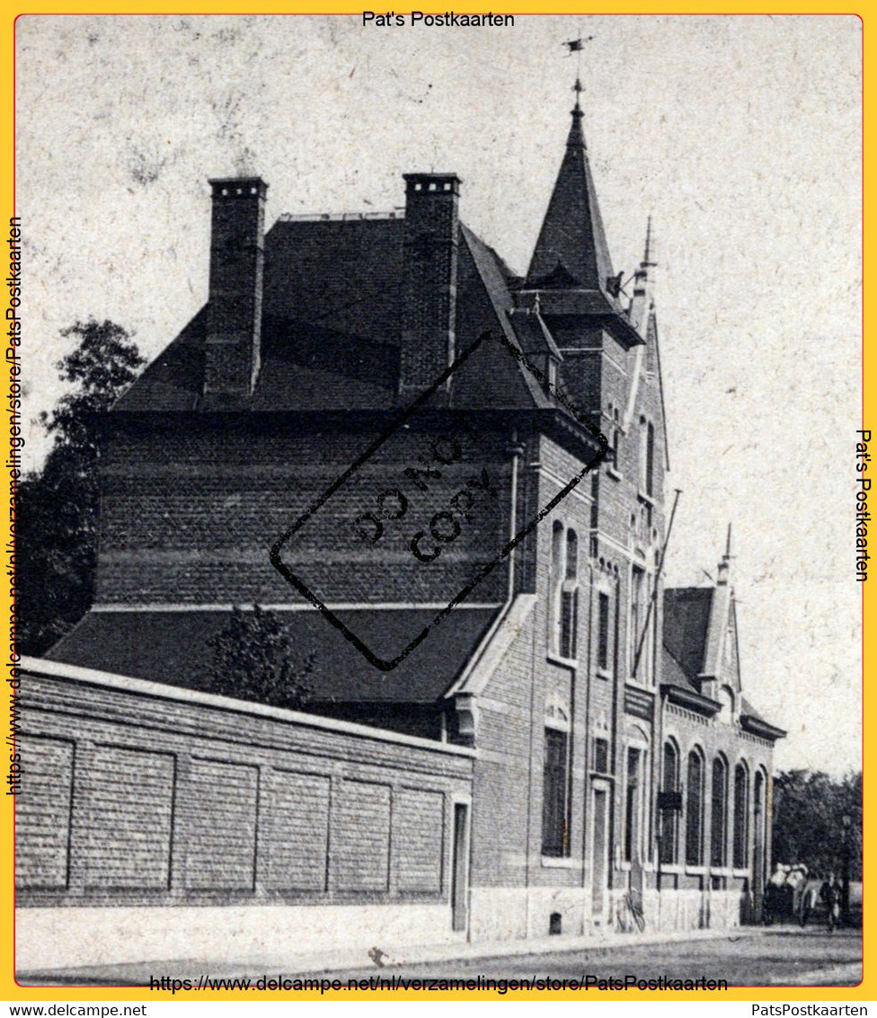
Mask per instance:
[[[388,409],[397,394],[404,218],[280,219],[265,237],[262,367],[251,410]],[[519,280],[460,224],[457,349],[484,330],[520,348],[508,315]],[[122,411],[224,409],[202,396],[207,309],[116,403]],[[454,378],[455,405],[549,407],[528,371],[489,344]]]

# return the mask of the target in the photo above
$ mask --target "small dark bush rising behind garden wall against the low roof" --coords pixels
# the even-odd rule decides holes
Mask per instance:
[[[234,607],[231,618],[210,641],[214,692],[295,710],[314,694],[308,676],[314,656],[296,659],[292,641],[274,612]]]

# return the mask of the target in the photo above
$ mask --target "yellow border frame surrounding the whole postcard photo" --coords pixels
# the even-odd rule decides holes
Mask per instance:
[[[4,159],[2,162],[2,194],[4,199],[5,220],[14,214],[14,45],[15,45],[15,22],[23,14],[359,14],[368,5],[354,5],[350,0],[334,0],[332,3],[320,2],[320,0],[262,0],[258,10],[248,9],[249,4],[244,2],[231,2],[231,0],[15,0],[15,2],[4,4],[2,21],[0,21],[0,134],[4,147]],[[374,5],[373,5],[374,6]],[[391,6],[387,4],[386,6]],[[417,9],[428,13],[439,13],[448,9],[451,5],[445,0],[423,0],[417,5]],[[554,14],[811,14],[811,15],[855,15],[863,22],[863,62],[864,62],[864,160],[866,174],[864,177],[865,190],[865,221],[864,221],[864,263],[865,278],[868,278],[869,270],[877,263],[877,250],[875,250],[874,231],[869,229],[874,220],[872,203],[868,202],[873,191],[873,184],[869,180],[867,170],[869,169],[872,139],[877,134],[877,114],[875,114],[872,104],[868,101],[870,96],[868,90],[874,90],[870,82],[874,80],[875,54],[874,46],[870,41],[869,26],[877,24],[877,5],[868,3],[867,0],[852,0],[842,6],[837,5],[833,9],[825,0],[640,0],[634,3],[631,0],[620,0],[616,3],[595,3],[594,0],[555,0],[550,10],[534,11],[534,4],[510,2],[510,0],[491,0],[490,3],[473,3],[472,0],[454,0],[453,9],[457,13],[484,13],[486,9],[494,13],[508,14],[534,14],[554,15]],[[372,8],[369,8],[372,9]],[[375,8],[377,9],[377,8]],[[383,9],[383,8],[382,8]],[[399,13],[407,13],[412,7],[408,5],[395,6],[393,8]],[[869,24],[870,21],[870,24]],[[26,224],[24,224],[26,226]],[[877,305],[877,290],[869,291],[867,288],[864,295],[863,310],[863,336],[867,336],[867,328],[875,318],[875,305]],[[4,361],[5,363],[5,361]],[[8,366],[3,369],[6,374],[4,384],[8,386]],[[877,418],[869,412],[873,407],[873,391],[875,374],[874,358],[870,355],[867,344],[863,343],[863,425],[862,427],[877,428]],[[870,421],[870,425],[869,425]],[[4,434],[8,435],[8,432]],[[856,435],[837,436],[837,453],[841,461],[848,462],[851,484],[851,496],[854,491],[853,464]],[[4,455],[8,450],[4,448]],[[6,514],[0,521],[0,535],[5,544],[9,540],[9,520]],[[851,538],[852,547],[852,538]],[[852,580],[851,580],[852,581]],[[877,583],[877,579],[872,581]],[[5,587],[5,584],[4,584]],[[870,596],[869,584],[863,584],[863,613],[864,621],[867,623],[873,617],[872,602],[874,597]],[[9,596],[8,590],[0,591],[0,610],[2,618],[9,618]],[[864,730],[868,731],[869,722],[872,718],[877,720],[877,689],[869,685],[866,681],[868,676],[867,665],[874,658],[874,644],[877,642],[877,633],[869,631],[867,624],[864,627],[864,652],[865,666],[863,667],[863,709],[864,709]],[[6,644],[3,646],[4,663],[8,660]],[[4,678],[8,675],[8,667],[4,667]],[[5,683],[4,683],[5,688]],[[870,747],[866,740],[864,744],[863,767],[865,773],[870,768]],[[865,781],[865,870],[870,873],[874,869],[874,843],[877,837],[877,816],[870,808],[874,793],[870,791],[871,785]],[[368,991],[360,993],[319,993],[293,994],[283,992],[264,993],[235,993],[232,991],[209,992],[209,993],[178,993],[174,997],[170,995],[158,995],[150,993],[148,989],[140,987],[25,987],[18,985],[13,978],[13,910],[14,891],[12,882],[13,872],[13,805],[12,796],[3,795],[2,819],[3,832],[0,836],[0,865],[2,866],[3,880],[0,881],[0,943],[7,946],[7,952],[0,962],[0,999],[12,1002],[29,1001],[65,1001],[75,1003],[81,1001],[108,1001],[136,1003],[163,1002],[163,1001],[212,1001],[212,1000],[239,1000],[239,1001],[299,1001],[299,1000],[344,1000],[344,1001],[413,1001],[413,1000],[578,1000],[582,1003],[592,1001],[759,1001],[770,1003],[773,1001],[788,1002],[855,1002],[877,1000],[877,975],[872,970],[870,962],[875,961],[877,965],[877,952],[873,948],[872,931],[875,925],[874,910],[865,911],[864,924],[864,981],[855,987],[752,987],[732,988],[724,993],[692,992],[692,993],[660,993],[660,992],[639,992],[629,991],[623,993],[581,991],[577,993],[564,992],[537,992],[520,991],[500,995],[494,992],[460,992],[460,993],[424,993],[418,991],[396,991],[395,993],[371,993]],[[867,890],[866,890],[867,896]],[[526,950],[526,948],[525,948]]]

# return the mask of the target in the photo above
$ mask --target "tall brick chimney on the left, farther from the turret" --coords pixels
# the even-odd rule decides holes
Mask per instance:
[[[260,367],[265,193],[260,177],[211,180],[205,396],[246,399]],[[213,401],[215,402],[215,400]]]

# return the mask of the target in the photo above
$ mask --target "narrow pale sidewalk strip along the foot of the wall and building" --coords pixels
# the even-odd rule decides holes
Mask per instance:
[[[380,950],[377,965],[370,952],[372,945],[365,949],[350,949],[333,953],[302,953],[295,955],[263,955],[227,960],[200,960],[193,958],[163,959],[157,961],[129,962],[117,965],[96,965],[77,969],[50,969],[19,972],[18,981],[23,985],[149,985],[150,978],[189,979],[198,984],[202,976],[214,978],[258,978],[262,975],[291,976],[320,975],[324,972],[350,970],[392,969],[398,965],[413,965],[430,962],[505,958],[516,955],[539,955],[554,952],[595,951],[612,947],[639,947],[650,944],[672,944],[691,941],[738,940],[741,938],[769,937],[771,934],[788,934],[797,927],[737,926],[728,929],[690,929],[681,932],[652,931],[644,934],[621,934],[607,930],[604,934],[587,937],[543,937],[533,940],[511,940],[479,942],[477,944],[424,945],[406,948]],[[797,930],[802,936],[805,931]]]

